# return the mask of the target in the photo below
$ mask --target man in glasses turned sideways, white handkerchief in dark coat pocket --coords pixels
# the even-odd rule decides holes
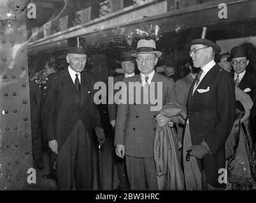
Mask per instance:
[[[225,169],[224,146],[234,123],[235,93],[231,75],[213,60],[219,52],[220,47],[208,39],[194,39],[190,43],[194,67],[201,70],[188,93],[183,140],[187,190],[225,186],[218,182],[218,171]]]

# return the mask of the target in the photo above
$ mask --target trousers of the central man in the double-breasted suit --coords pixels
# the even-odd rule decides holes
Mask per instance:
[[[130,157],[125,155],[131,190],[157,190],[157,176],[153,157]]]

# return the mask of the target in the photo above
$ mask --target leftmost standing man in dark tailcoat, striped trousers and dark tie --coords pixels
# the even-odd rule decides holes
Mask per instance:
[[[50,149],[57,154],[59,190],[92,190],[94,168],[92,128],[104,141],[101,118],[94,105],[92,75],[83,71],[85,49],[69,48],[68,69],[54,73],[43,104],[42,122]]]

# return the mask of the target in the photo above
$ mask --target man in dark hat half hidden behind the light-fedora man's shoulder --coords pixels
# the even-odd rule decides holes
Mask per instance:
[[[122,69],[124,70],[124,74],[114,77],[114,82],[113,82],[114,85],[116,82],[124,81],[125,78],[132,77],[135,75],[135,73],[134,73],[135,60],[134,60],[134,57],[131,55],[131,53],[124,51],[122,53],[121,60],[117,61],[117,63],[119,63],[122,66]],[[115,89],[115,93],[117,91],[118,90]],[[115,93],[114,93],[114,95],[115,95]],[[108,114],[110,116],[110,124],[111,124],[112,128],[115,128],[115,121],[116,121],[116,114],[117,114],[117,104],[116,103],[108,105]],[[117,161],[117,174],[118,174],[118,179],[119,179],[119,184],[118,184],[117,188],[118,188],[118,190],[127,190],[130,187],[130,185],[129,185],[129,180],[127,177],[125,160],[121,159],[120,157],[117,157],[117,156],[115,157],[115,159]]]

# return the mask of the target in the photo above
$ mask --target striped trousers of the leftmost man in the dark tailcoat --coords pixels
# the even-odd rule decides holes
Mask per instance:
[[[90,137],[81,120],[69,134],[57,157],[58,190],[92,190],[93,157]]]

